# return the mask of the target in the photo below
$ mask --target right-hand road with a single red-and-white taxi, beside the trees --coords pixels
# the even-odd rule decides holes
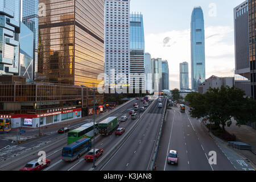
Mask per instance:
[[[177,166],[167,164],[170,150],[177,151],[179,159]],[[237,163],[241,157],[228,148],[225,150],[209,137],[208,131],[203,129],[199,120],[190,117],[188,108],[185,113],[180,113],[179,107],[172,107],[171,110],[167,110],[166,121],[163,124],[156,170],[234,171],[241,168]],[[210,151],[215,151],[217,154],[216,165],[210,165],[208,162]]]

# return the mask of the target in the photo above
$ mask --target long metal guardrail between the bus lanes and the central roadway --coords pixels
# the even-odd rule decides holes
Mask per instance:
[[[141,120],[143,119],[143,116],[145,114],[148,113],[148,111],[150,111],[151,107],[154,106],[155,102],[157,101],[154,100],[149,107],[147,107],[147,110],[144,111],[144,113],[141,115],[141,118],[139,118],[139,120],[137,122],[134,123],[133,126],[131,126],[130,130],[127,131],[124,135],[123,138],[121,140],[119,140],[119,142],[117,142],[114,147],[112,147],[112,149],[110,149],[108,151],[108,153],[106,153],[103,158],[101,158],[100,160],[98,160],[98,162],[96,163],[96,168],[90,168],[89,171],[99,171],[100,169],[102,169],[102,167],[105,166],[106,163],[108,163],[108,161],[112,158],[112,156],[115,154],[115,152],[117,152],[119,150],[119,148],[123,145],[123,143],[126,142],[127,138],[130,137],[131,134],[133,134],[133,131],[136,129],[136,127],[139,125],[139,123],[141,123]]]

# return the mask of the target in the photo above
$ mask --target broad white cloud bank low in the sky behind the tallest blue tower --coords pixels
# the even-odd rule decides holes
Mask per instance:
[[[170,87],[179,88],[179,64],[189,63],[189,85],[191,85],[191,38],[190,29],[146,34],[146,52],[152,58],[167,60],[170,69]],[[232,37],[232,39],[229,39]],[[234,76],[233,28],[229,26],[205,27],[206,77]],[[166,44],[164,44],[164,41]],[[163,46],[166,45],[166,46]]]

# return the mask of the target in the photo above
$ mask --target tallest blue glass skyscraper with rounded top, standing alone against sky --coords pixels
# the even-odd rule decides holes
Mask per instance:
[[[191,16],[191,84],[198,90],[198,84],[205,81],[205,35],[204,14],[201,7],[195,7]]]

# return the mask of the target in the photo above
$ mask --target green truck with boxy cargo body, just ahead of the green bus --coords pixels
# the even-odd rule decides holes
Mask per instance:
[[[118,127],[119,121],[117,117],[109,117],[98,123],[99,133],[105,136],[111,135]]]

